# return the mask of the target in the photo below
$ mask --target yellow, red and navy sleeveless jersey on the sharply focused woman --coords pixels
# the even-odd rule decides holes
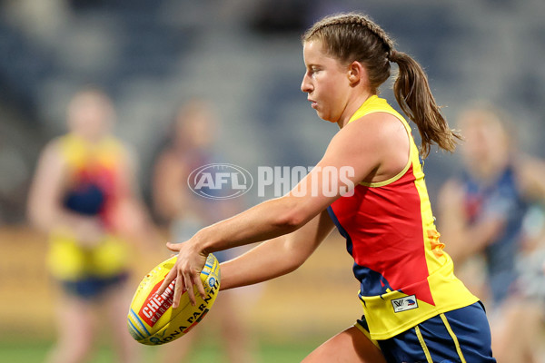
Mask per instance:
[[[409,162],[387,181],[358,184],[328,211],[354,259],[371,337],[386,339],[478,298],[454,276],[451,257],[442,250],[409,124],[376,95],[349,123],[369,113],[390,113],[403,123],[411,140]]]

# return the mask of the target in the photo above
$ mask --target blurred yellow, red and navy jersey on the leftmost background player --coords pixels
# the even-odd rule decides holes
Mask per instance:
[[[68,211],[98,218],[104,239],[92,246],[78,242],[69,227],[50,232],[47,265],[55,278],[79,280],[88,276],[111,277],[126,270],[128,250],[115,233],[117,203],[128,191],[121,170],[126,162],[124,146],[114,137],[97,143],[74,133],[58,140],[66,163],[63,205]]]

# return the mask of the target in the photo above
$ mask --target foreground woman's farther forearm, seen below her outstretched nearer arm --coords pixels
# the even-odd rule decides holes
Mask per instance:
[[[327,211],[322,211],[302,228],[266,240],[243,255],[221,265],[220,289],[271,280],[299,268],[333,230]]]

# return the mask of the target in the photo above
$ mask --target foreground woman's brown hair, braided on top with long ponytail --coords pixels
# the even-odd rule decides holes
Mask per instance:
[[[403,113],[418,127],[421,156],[429,155],[432,144],[454,151],[461,135],[451,130],[442,116],[421,65],[410,55],[395,50],[391,37],[369,17],[357,13],[326,16],[302,35],[303,44],[315,40],[321,41],[325,52],[342,63],[360,62],[375,94],[390,77],[390,63],[398,64],[393,93]]]

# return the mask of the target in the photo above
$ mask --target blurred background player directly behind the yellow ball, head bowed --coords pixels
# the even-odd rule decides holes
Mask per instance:
[[[168,222],[172,240],[189,240],[203,227],[221,221],[242,208],[236,200],[214,200],[196,195],[188,186],[188,177],[193,170],[219,162],[220,158],[213,152],[217,126],[211,104],[197,98],[184,103],[170,130],[170,141],[155,165],[154,205],[158,214]],[[214,194],[213,190],[208,192]],[[232,251],[217,252],[214,255],[220,262],[234,257]],[[217,321],[227,361],[254,363],[253,341],[240,309],[234,305],[237,292],[223,292],[207,319]],[[186,361],[202,329],[199,326],[183,339],[162,347],[162,361]]]

